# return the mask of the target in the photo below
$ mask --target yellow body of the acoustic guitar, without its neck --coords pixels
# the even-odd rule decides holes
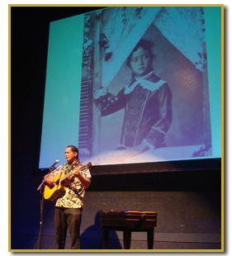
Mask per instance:
[[[60,179],[64,177],[64,173],[59,175],[51,175],[54,178],[55,185],[50,188],[45,185],[44,197],[50,201],[54,201],[57,197],[65,193],[64,185],[60,182]]]

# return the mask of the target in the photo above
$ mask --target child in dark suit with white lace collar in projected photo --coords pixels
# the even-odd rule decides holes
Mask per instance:
[[[172,92],[168,84],[154,74],[153,42],[140,40],[127,59],[132,82],[116,96],[107,88],[94,92],[102,116],[125,109],[120,145],[121,157],[132,157],[147,149],[165,146],[172,121]]]

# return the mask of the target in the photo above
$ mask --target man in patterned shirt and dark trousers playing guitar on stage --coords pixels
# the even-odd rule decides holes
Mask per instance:
[[[64,249],[67,229],[71,237],[71,249],[80,249],[80,225],[83,211],[83,197],[86,188],[90,186],[91,174],[89,168],[78,169],[84,164],[78,159],[78,148],[69,145],[65,149],[67,164],[54,169],[51,175],[73,172],[71,178],[65,180],[64,192],[55,202],[55,249]],[[46,178],[46,176],[45,176]],[[48,177],[45,184],[54,187],[54,178]]]

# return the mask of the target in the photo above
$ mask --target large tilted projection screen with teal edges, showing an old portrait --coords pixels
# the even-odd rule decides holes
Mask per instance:
[[[92,165],[220,159],[221,7],[51,22],[39,168],[67,145]]]

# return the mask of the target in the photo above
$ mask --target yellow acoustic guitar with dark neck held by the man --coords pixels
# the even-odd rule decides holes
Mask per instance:
[[[90,168],[92,164],[89,162],[88,164],[85,164],[83,166],[80,166],[78,168],[74,168],[73,171],[78,169],[78,171],[83,170],[85,168]],[[50,188],[47,185],[45,185],[45,192],[44,197],[45,199],[48,199],[50,201],[54,201],[59,196],[64,195],[65,193],[65,185],[67,185],[70,182],[69,177],[73,175],[73,171],[64,174],[64,172],[59,173],[58,175],[50,175],[54,178],[54,187]]]

